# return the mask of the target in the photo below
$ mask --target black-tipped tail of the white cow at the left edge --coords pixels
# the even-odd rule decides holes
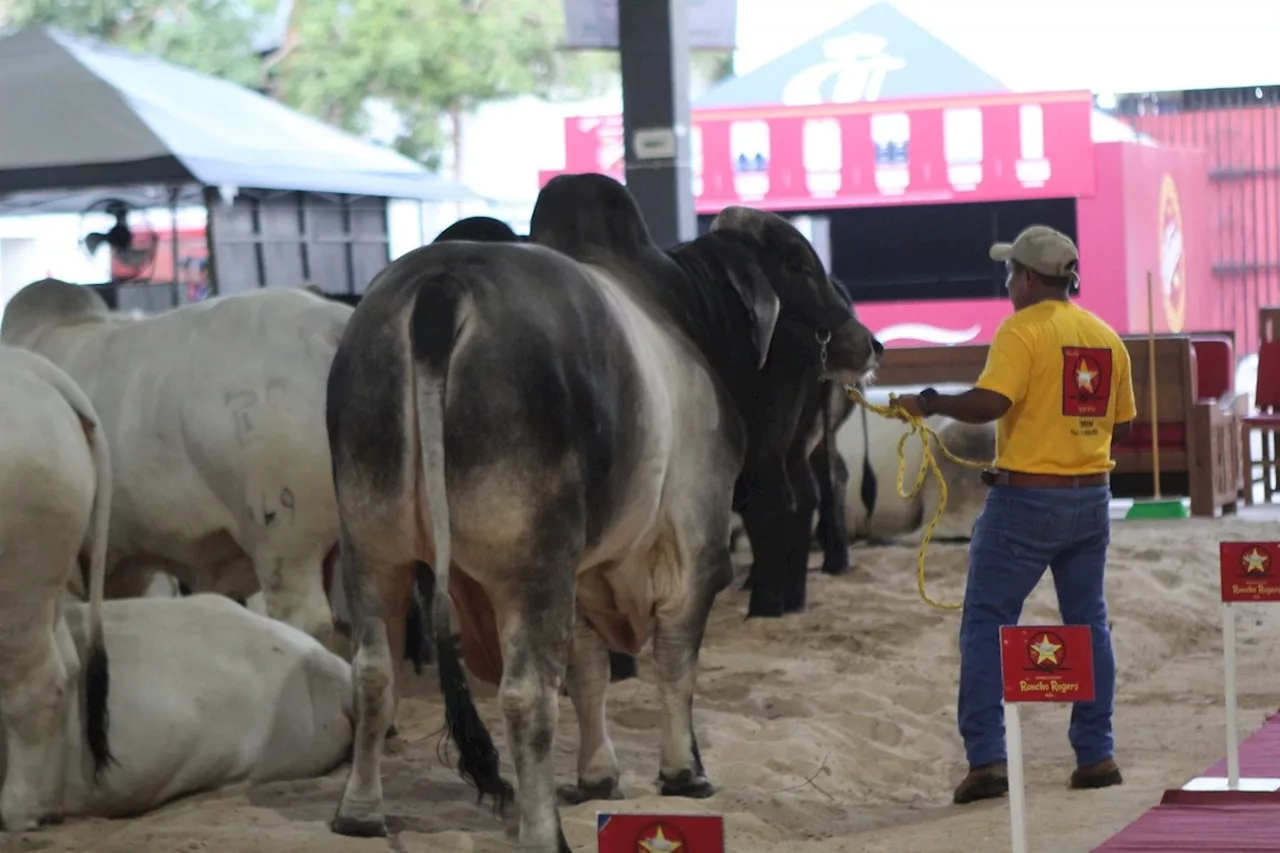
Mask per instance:
[[[108,707],[110,675],[106,665],[106,642],[102,635],[102,598],[106,587],[106,540],[111,521],[111,451],[97,410],[88,396],[70,377],[58,369],[51,361],[35,356],[32,370],[58,389],[79,418],[84,437],[88,439],[90,455],[93,460],[93,508],[90,515],[90,560],[88,560],[88,643],[84,647],[84,661],[81,674],[84,694],[84,738],[90,754],[93,757],[93,779],[101,776],[108,766],[116,763],[111,756],[108,739]]]

